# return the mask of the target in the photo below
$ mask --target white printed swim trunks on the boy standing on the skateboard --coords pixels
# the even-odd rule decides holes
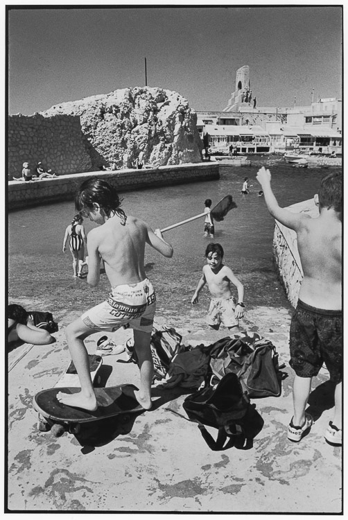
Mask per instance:
[[[81,319],[91,329],[116,331],[130,327],[152,332],[156,310],[156,295],[147,278],[138,284],[112,287],[105,302],[82,314]]]

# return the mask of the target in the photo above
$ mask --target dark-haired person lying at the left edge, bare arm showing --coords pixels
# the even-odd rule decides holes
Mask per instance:
[[[17,304],[8,306],[8,343],[12,341],[24,341],[34,345],[48,345],[55,338],[49,331],[35,327],[33,320],[28,318],[26,310]]]

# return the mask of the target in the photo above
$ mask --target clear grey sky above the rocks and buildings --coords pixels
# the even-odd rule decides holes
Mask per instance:
[[[337,5],[11,5],[9,114],[143,87],[145,58],[148,85],[178,92],[194,110],[223,110],[243,65],[258,107],[342,97]]]

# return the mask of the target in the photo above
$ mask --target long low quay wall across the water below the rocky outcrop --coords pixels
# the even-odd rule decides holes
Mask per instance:
[[[21,209],[61,200],[73,200],[80,184],[94,175],[111,182],[121,193],[132,189],[220,178],[218,164],[209,163],[161,166],[143,170],[78,173],[30,182],[10,181],[8,183],[8,209]]]

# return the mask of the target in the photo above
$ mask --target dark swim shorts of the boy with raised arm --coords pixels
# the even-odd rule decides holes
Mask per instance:
[[[316,309],[301,300],[290,324],[290,366],[299,377],[317,376],[323,363],[342,381],[342,311]]]

